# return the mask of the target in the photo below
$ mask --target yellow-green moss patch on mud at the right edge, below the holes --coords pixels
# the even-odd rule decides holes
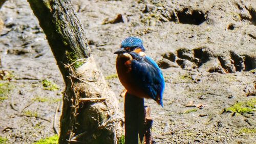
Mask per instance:
[[[255,111],[255,105],[256,105],[256,98],[253,98],[247,102],[236,103],[233,106],[227,108],[226,110],[243,114],[243,113]]]

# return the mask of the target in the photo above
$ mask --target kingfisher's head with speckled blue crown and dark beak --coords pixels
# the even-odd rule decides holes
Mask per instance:
[[[118,51],[114,54],[124,54],[129,52],[135,52],[139,54],[140,52],[144,52],[143,41],[137,37],[127,37],[125,38],[122,43],[121,47]]]

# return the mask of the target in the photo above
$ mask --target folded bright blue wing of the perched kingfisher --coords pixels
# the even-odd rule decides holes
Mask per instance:
[[[132,73],[142,90],[156,101],[157,97],[160,97],[158,99],[162,105],[164,78],[156,62],[147,56],[138,61],[133,60]]]

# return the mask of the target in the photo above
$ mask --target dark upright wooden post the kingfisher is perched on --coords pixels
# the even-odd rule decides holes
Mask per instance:
[[[125,94],[125,144],[136,144],[143,141],[145,127],[144,99],[130,93]]]

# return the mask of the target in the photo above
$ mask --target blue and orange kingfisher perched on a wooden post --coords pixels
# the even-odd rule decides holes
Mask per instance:
[[[163,107],[165,87],[161,69],[145,53],[143,41],[127,37],[121,42],[117,54],[118,78],[128,93],[139,98],[153,99]]]

